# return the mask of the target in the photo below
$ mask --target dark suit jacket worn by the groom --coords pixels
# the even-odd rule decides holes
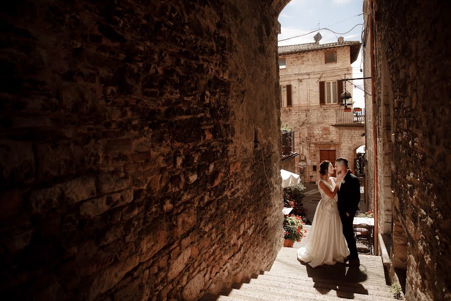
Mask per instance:
[[[347,212],[353,215],[359,208],[360,181],[351,173],[347,173],[343,180],[337,193],[338,212]]]

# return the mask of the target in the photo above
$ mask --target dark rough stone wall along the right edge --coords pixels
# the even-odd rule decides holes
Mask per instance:
[[[385,0],[373,4],[378,66],[374,80],[378,90],[372,122],[377,125],[377,138],[383,137],[383,119],[387,116],[384,98],[388,95],[392,102],[390,130],[394,134],[390,151],[392,214],[396,217],[391,231],[393,244],[407,248],[406,252],[394,249],[393,264],[406,264],[407,300],[449,299],[451,195],[446,175],[451,172],[447,134],[451,124],[447,85],[451,78],[451,30],[447,13],[451,4],[429,1],[412,5]],[[438,40],[436,33],[441,36]],[[387,72],[383,70],[385,64]],[[391,87],[389,93],[382,91],[384,87]],[[384,140],[390,139],[383,137],[382,144]],[[368,152],[375,152],[370,141],[367,136]],[[378,167],[388,151],[378,145]],[[378,170],[380,173],[383,171]],[[381,185],[384,181],[378,182],[376,189],[385,189]]]

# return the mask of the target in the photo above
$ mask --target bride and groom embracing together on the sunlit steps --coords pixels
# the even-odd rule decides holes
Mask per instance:
[[[334,171],[337,178],[331,177]],[[335,169],[329,161],[321,162],[320,175],[321,201],[307,243],[298,250],[298,260],[312,267],[348,260],[358,263],[352,224],[360,201],[359,179],[350,173],[344,158],[335,161]]]

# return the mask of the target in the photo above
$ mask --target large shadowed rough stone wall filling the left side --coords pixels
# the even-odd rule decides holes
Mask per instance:
[[[275,15],[269,1],[4,6],[4,294],[190,300],[270,266]]]

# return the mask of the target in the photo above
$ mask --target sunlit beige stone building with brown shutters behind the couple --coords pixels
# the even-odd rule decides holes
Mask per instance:
[[[344,112],[339,97],[359,49],[359,42],[341,37],[337,43],[279,47],[281,122],[294,128],[296,173],[304,182],[318,180],[323,160],[345,157],[356,168],[355,151],[365,144],[363,118],[356,122],[353,112]]]

